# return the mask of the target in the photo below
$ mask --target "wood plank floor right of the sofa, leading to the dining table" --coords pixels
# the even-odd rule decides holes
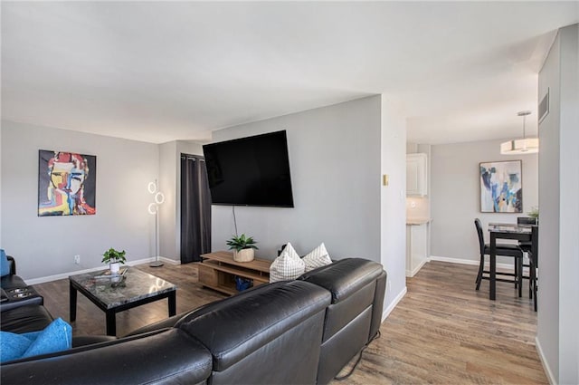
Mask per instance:
[[[477,266],[431,262],[407,279],[408,293],[345,382],[548,384],[532,301],[508,283],[489,301],[488,281],[474,290],[476,274]]]

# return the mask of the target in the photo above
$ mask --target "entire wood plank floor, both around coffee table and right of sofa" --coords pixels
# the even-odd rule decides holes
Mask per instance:
[[[223,298],[197,284],[195,264],[138,267],[177,284],[177,313]],[[408,293],[354,374],[332,384],[547,384],[535,348],[532,302],[517,298],[507,283],[498,283],[497,301],[489,301],[488,281],[474,290],[476,273],[471,265],[424,265],[408,279]],[[69,321],[68,280],[34,287],[53,316]],[[166,315],[166,300],[119,313],[118,335]],[[102,334],[104,325],[104,313],[79,294],[73,333]]]

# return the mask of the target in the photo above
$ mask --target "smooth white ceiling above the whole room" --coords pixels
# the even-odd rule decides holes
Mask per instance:
[[[384,93],[407,138],[536,134],[537,73],[579,2],[6,2],[2,118],[131,140]],[[356,128],[353,128],[356,130]]]

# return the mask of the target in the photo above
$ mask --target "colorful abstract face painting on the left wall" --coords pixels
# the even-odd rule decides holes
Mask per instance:
[[[38,216],[84,216],[97,212],[97,157],[39,150]]]

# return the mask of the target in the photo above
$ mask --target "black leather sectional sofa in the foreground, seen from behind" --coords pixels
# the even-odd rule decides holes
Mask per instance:
[[[5,362],[1,382],[324,384],[378,333],[385,283],[382,265],[342,259],[123,338]]]

